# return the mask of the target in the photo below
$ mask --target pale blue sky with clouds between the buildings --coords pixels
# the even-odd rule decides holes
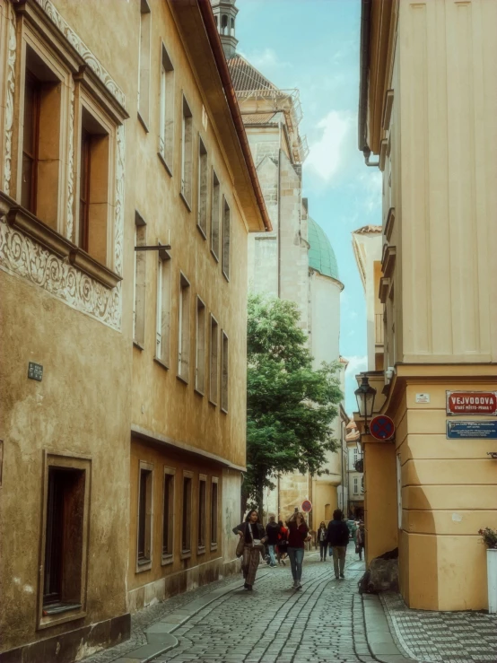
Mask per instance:
[[[301,92],[310,154],[303,196],[336,253],[340,353],[349,360],[345,409],[357,409],[354,375],[366,369],[364,290],[351,232],[381,224],[381,174],[357,148],[360,0],[237,0],[237,50],[272,83]]]

